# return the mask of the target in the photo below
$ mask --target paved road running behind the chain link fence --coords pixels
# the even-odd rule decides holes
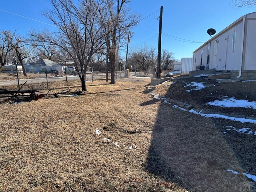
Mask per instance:
[[[105,74],[94,74],[93,78],[94,79],[99,79],[99,78],[104,78],[106,77]],[[79,76],[67,76],[68,81],[69,80],[76,80],[79,79]],[[92,75],[87,74],[86,75],[86,80],[91,80]],[[26,82],[27,81],[27,82]],[[48,78],[48,82],[53,82],[53,81],[66,81],[66,77],[55,77],[55,78]],[[35,83],[45,83],[46,78],[40,78],[40,79],[24,79],[24,80],[19,80],[20,84],[35,84]],[[6,81],[0,81],[0,86],[9,86],[9,85],[17,85],[18,82],[17,80],[6,80]]]

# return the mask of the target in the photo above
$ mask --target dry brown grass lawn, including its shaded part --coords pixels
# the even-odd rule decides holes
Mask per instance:
[[[246,179],[226,172],[242,168],[212,120],[152,100],[148,82],[1,104],[0,191],[237,191]]]

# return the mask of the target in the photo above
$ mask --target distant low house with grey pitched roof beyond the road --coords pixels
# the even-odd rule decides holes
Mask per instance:
[[[63,72],[63,68],[60,64],[48,59],[40,59],[36,62],[28,63],[25,64],[24,67],[28,73],[45,73],[46,70],[56,70],[58,72]]]

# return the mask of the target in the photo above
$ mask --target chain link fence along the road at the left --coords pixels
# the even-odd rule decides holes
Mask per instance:
[[[115,78],[124,78],[124,71],[116,71]],[[111,71],[108,72],[109,82],[110,79]],[[98,80],[106,81],[106,71],[86,72],[86,82]],[[79,85],[81,85],[79,76],[66,71],[45,69],[43,73],[27,73],[27,76],[24,76],[22,70],[0,71],[0,89],[5,90],[45,90]]]

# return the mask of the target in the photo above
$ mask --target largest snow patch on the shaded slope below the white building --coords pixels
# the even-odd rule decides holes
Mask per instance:
[[[215,100],[212,102],[206,103],[206,105],[212,105],[212,106],[220,106],[220,107],[243,107],[243,108],[253,108],[256,109],[256,102],[248,102],[248,100],[243,100],[243,99],[235,99],[234,97],[232,98],[226,98],[223,100]]]

